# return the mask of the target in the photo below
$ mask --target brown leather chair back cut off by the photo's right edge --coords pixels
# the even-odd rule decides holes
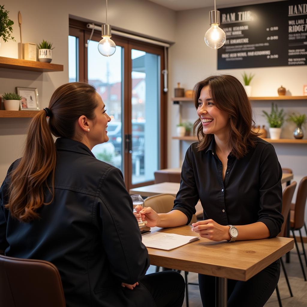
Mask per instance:
[[[307,176],[303,177],[297,188],[294,216],[291,214],[291,228],[301,229],[304,226],[305,205],[307,199]],[[292,213],[292,210],[291,210]]]

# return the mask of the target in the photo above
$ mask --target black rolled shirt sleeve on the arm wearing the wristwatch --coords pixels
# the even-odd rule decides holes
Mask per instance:
[[[259,169],[258,222],[264,223],[270,231],[270,238],[281,231],[282,216],[282,169],[274,147],[267,144],[261,153]]]

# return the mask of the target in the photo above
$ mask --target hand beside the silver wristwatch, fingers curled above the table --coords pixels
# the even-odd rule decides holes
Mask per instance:
[[[199,233],[202,238],[212,241],[230,240],[229,226],[223,226],[214,220],[204,220],[192,224],[192,231]]]

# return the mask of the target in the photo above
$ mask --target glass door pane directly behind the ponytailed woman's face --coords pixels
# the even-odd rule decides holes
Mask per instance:
[[[88,82],[93,84],[106,105],[111,117],[108,123],[109,142],[96,145],[92,152],[95,157],[122,168],[122,51],[116,46],[115,53],[102,56],[98,52],[98,42],[88,44]]]

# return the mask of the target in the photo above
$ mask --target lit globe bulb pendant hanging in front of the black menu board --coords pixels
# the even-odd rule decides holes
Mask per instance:
[[[214,11],[209,12],[209,19],[211,28],[205,34],[205,42],[208,47],[212,49],[219,49],[225,44],[226,34],[223,29],[219,28],[220,11],[216,10],[215,0]]]

